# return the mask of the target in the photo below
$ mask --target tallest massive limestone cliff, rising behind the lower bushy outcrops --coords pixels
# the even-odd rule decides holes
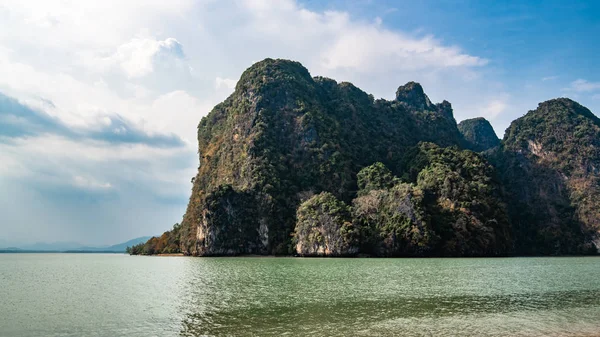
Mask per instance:
[[[302,196],[328,191],[348,202],[362,167],[397,167],[419,141],[458,145],[449,103],[442,114],[420,85],[409,87],[410,104],[374,101],[350,83],[312,78],[297,62],[267,59],[250,67],[198,126],[200,166],[182,251],[289,254]],[[415,106],[413,98],[426,104]],[[215,193],[223,186],[233,192]]]

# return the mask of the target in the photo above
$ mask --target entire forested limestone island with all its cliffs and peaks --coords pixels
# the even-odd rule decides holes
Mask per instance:
[[[540,103],[499,140],[409,82],[396,99],[265,59],[198,125],[181,224],[131,254],[597,254],[600,119]]]

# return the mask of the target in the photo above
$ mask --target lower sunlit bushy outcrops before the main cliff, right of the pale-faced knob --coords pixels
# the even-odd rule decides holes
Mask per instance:
[[[380,163],[359,174],[354,221],[362,252],[377,256],[511,253],[510,222],[494,168],[480,155],[421,143],[406,155],[404,181]],[[390,187],[390,182],[394,185]]]

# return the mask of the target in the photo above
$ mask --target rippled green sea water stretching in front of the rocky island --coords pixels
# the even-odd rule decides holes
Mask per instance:
[[[0,336],[596,336],[600,258],[0,254]]]

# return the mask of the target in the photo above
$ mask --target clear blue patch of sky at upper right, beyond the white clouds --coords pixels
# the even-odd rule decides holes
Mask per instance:
[[[304,4],[314,10],[380,17],[390,29],[431,34],[489,60],[480,72],[510,95],[510,109],[495,118],[488,116],[499,137],[514,118],[550,98],[568,96],[600,111],[598,1],[309,0]],[[436,93],[437,100],[441,96]],[[452,97],[447,99],[453,102]],[[460,111],[457,115],[462,117]]]

